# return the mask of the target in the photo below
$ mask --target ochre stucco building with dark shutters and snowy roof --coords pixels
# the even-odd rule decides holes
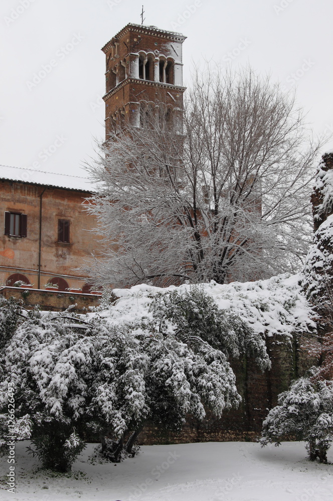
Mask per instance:
[[[84,210],[91,184],[5,166],[0,183],[0,285],[21,281],[25,289],[90,293],[89,278],[79,268],[98,249],[91,232],[95,220]]]

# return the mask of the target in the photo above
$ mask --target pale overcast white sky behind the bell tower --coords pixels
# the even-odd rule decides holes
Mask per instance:
[[[127,23],[140,23],[142,2],[1,1],[0,164],[84,175],[94,138],[104,136],[100,49]],[[333,131],[330,0],[144,0],[144,10],[145,25],[188,37],[186,85],[193,63],[249,63],[286,89],[296,85],[313,130]],[[49,73],[32,86],[43,65]]]

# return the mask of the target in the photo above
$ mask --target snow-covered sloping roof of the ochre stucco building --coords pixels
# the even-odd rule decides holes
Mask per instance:
[[[44,172],[42,170],[29,168],[22,169],[20,167],[9,167],[7,165],[0,165],[0,179],[75,191],[85,191],[87,193],[96,191],[96,186],[87,177]]]

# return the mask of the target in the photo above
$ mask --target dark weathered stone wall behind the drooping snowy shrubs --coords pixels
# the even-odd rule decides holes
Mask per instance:
[[[139,435],[139,444],[255,441],[268,410],[277,404],[277,395],[316,363],[299,348],[296,338],[281,342],[281,336],[269,337],[266,345],[272,362],[270,371],[260,372],[246,357],[231,360],[237,389],[243,397],[238,409],[225,411],[221,419],[208,412],[202,422],[189,416],[179,433],[147,425]]]

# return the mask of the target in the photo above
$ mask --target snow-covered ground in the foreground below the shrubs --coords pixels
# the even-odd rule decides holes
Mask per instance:
[[[87,461],[89,444],[72,477],[51,478],[38,461],[16,447],[16,493],[8,493],[0,469],[0,499],[7,501],[328,501],[333,497],[333,464],[311,463],[304,444],[284,442],[261,449],[249,442],[144,446],[117,465]],[[328,452],[333,462],[333,451]]]

